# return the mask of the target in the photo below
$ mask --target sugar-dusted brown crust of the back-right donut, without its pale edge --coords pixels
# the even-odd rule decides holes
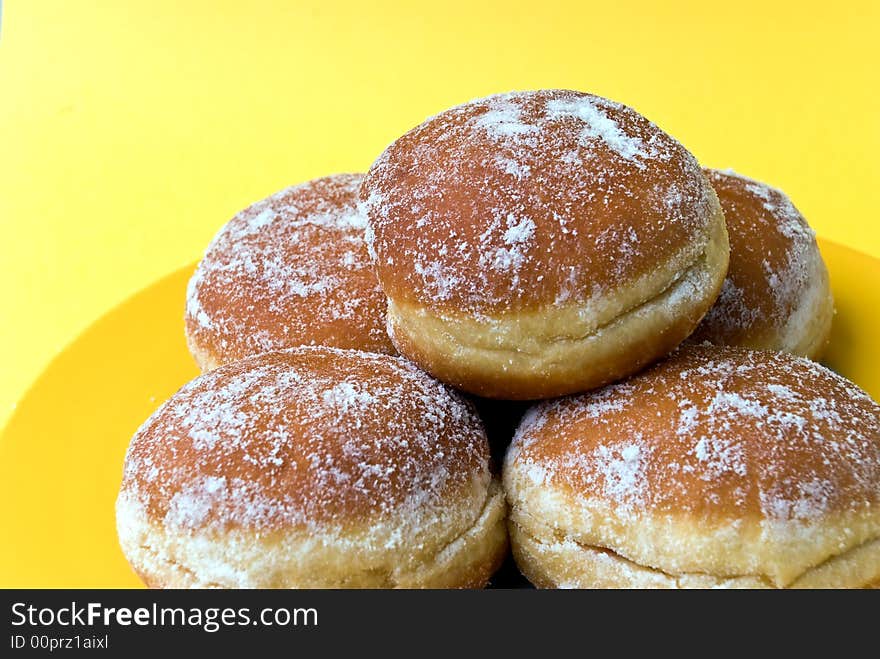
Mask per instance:
[[[728,345],[759,344],[799,308],[822,257],[815,232],[780,190],[732,170],[706,170],[730,240],[721,294],[694,334]]]

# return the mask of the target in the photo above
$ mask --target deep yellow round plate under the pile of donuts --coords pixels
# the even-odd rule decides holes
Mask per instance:
[[[880,261],[822,241],[837,302],[829,366],[880,396]],[[196,375],[192,266],[133,296],[52,361],[0,437],[0,586],[134,587],[113,503],[134,431]]]

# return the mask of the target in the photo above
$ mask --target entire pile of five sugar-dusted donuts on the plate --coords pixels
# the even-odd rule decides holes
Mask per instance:
[[[120,543],[154,587],[483,587],[508,546],[539,587],[880,585],[833,313],[779,190],[597,96],[472,101],[221,229]]]

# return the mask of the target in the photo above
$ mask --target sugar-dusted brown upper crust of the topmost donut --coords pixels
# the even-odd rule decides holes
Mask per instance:
[[[361,198],[389,297],[473,313],[583,303],[696,259],[717,204],[673,138],[565,90],[441,112],[385,150]]]

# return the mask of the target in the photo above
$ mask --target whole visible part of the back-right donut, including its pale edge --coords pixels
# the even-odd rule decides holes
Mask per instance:
[[[779,190],[730,170],[706,170],[730,236],[718,301],[691,337],[818,359],[834,300],[815,233]]]

